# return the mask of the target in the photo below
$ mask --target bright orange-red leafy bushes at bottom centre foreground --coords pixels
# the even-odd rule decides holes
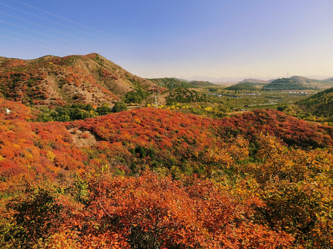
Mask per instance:
[[[58,197],[60,213],[45,232],[47,248],[277,248],[293,238],[255,222],[254,203],[237,201],[210,180],[101,176],[89,198]],[[69,247],[70,248],[70,247]]]

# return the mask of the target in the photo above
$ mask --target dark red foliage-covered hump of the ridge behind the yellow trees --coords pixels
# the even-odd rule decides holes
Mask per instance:
[[[222,133],[240,133],[255,138],[259,133],[270,133],[281,138],[287,145],[300,147],[326,147],[333,145],[333,128],[311,124],[288,116],[280,111],[248,111],[221,120]]]

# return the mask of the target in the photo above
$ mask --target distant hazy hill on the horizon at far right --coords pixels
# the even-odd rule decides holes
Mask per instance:
[[[313,80],[307,77],[293,76],[273,80],[262,87],[263,90],[306,90],[306,89],[327,89],[332,87],[332,82],[325,80]]]

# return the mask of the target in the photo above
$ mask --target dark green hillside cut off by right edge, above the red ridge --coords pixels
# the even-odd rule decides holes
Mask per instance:
[[[296,102],[303,111],[315,116],[333,116],[333,88],[326,89],[309,98]]]

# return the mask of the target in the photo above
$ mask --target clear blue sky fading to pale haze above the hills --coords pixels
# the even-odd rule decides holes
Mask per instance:
[[[0,0],[0,56],[100,53],[142,77],[333,77],[332,0]]]

